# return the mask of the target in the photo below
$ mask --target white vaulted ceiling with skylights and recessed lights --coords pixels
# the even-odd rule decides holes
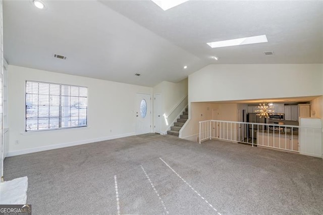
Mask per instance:
[[[154,86],[213,63],[323,63],[323,1],[190,0],[167,11],[139,0],[43,2],[4,1],[9,64]],[[267,43],[206,44],[262,34]]]

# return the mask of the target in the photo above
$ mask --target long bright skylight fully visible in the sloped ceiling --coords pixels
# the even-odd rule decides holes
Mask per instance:
[[[206,44],[208,44],[212,48],[218,48],[218,47],[245,45],[245,44],[261,43],[261,42],[268,42],[266,35],[251,36],[251,37],[244,37],[244,38],[238,38],[238,39],[229,39],[229,40],[223,40],[223,41],[217,41],[217,42],[208,42]]]

